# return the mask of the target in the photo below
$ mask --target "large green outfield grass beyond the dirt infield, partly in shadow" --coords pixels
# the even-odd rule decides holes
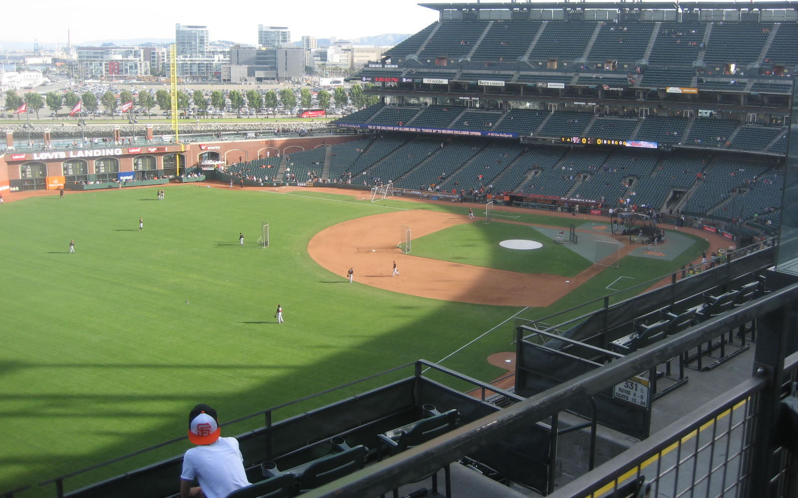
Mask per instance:
[[[167,187],[158,201],[156,190],[34,197],[0,209],[0,492],[179,437],[197,402],[230,420],[418,358],[438,361],[522,311],[334,283],[340,275],[306,252],[314,234],[346,219],[418,207],[462,214],[459,206],[195,185]],[[270,223],[267,249],[255,247],[261,219]],[[534,214],[519,220],[568,222]],[[503,225],[480,232],[485,245]],[[475,246],[480,233],[468,235]],[[70,239],[76,254],[68,254]],[[638,271],[646,265],[651,260]],[[680,265],[669,263],[668,271]],[[584,301],[582,292],[573,299]],[[278,303],[281,325],[273,318]],[[499,376],[485,358],[512,350],[512,326],[509,320],[443,365],[486,381]],[[233,433],[260,425],[255,418]],[[69,480],[67,488],[185,447]],[[52,494],[36,488],[20,496]]]

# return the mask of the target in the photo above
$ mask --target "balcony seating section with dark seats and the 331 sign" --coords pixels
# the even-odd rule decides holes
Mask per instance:
[[[611,306],[610,296],[599,298],[576,318],[570,317],[579,308],[516,324],[516,393],[524,397],[542,393],[780,287],[767,271],[774,261],[774,249],[747,251],[743,248],[731,263],[689,278],[678,280],[674,274],[670,285]],[[713,368],[748,349],[755,334],[753,323],[729,330],[728,337],[721,334],[694,353],[674,351],[671,361],[641,370],[571,409],[581,417],[595,417],[606,427],[644,439],[650,432],[653,402],[685,384],[685,369]]]

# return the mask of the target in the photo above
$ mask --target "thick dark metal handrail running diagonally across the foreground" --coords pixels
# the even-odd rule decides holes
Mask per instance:
[[[584,373],[507,409],[463,425],[432,441],[354,472],[350,476],[342,477],[307,493],[306,496],[308,498],[378,496],[396,488],[397,484],[415,482],[468,452],[483,448],[491,441],[508,437],[519,428],[551,417],[638,372],[674,358],[685,349],[708,341],[717,336],[718,330],[733,329],[796,301],[798,301],[798,284],[773,291],[763,298],[729,311],[728,314],[711,318],[700,325],[602,366],[598,370]],[[752,382],[758,385],[757,381]]]

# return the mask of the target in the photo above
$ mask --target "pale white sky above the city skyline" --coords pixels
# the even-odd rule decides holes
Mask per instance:
[[[30,5],[7,0],[0,6],[4,41],[73,45],[82,41],[131,38],[175,38],[175,24],[207,26],[211,40],[257,45],[258,25],[288,26],[291,41],[315,38],[361,38],[385,33],[413,34],[437,20],[437,11],[422,0],[239,0],[238,2],[107,2],[37,0]],[[124,14],[122,14],[124,13]],[[14,19],[20,22],[14,22]]]

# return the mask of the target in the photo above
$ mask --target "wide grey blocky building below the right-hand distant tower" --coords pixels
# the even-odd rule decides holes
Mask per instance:
[[[305,73],[305,54],[306,51],[299,47],[255,49],[235,46],[230,49],[230,64],[222,67],[222,81],[301,81]]]

